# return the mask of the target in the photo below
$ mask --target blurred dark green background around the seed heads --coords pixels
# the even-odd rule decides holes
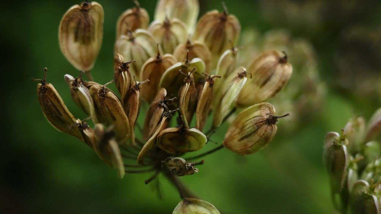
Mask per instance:
[[[327,97],[321,112],[310,112],[296,131],[280,131],[266,149],[248,157],[221,150],[205,158],[198,174],[181,180],[223,214],[335,213],[322,164],[322,139],[354,115],[368,119],[381,105],[380,1],[225,2],[243,29],[255,27],[263,33],[282,28],[309,40],[317,53],[320,77],[328,86]],[[36,83],[30,77],[42,78],[43,67],[48,67],[48,81],[67,107],[75,117],[86,117],[70,98],[63,75],[78,72],[61,54],[57,35],[62,14],[76,3],[14,1],[3,8],[6,89],[0,212],[169,214],[180,198],[163,176],[159,176],[162,200],[155,182],[144,184],[149,173],[118,179],[116,171],[85,144],[53,129],[38,105]],[[112,78],[117,18],[133,2],[99,3],[105,11],[104,40],[93,76],[104,83]],[[140,3],[152,20],[156,2]],[[200,0],[200,7],[200,14],[222,10],[217,0]],[[352,29],[360,30],[353,35]],[[220,130],[213,136],[216,142],[222,142],[226,125]],[[209,143],[203,151],[215,146]]]

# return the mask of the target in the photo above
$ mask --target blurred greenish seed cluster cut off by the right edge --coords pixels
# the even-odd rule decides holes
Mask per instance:
[[[328,171],[331,196],[341,213],[381,213],[381,109],[366,125],[352,118],[341,134],[324,138],[323,161]]]

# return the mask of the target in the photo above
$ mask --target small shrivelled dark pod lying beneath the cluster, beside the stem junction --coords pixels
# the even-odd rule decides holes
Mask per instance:
[[[199,172],[199,169],[194,168],[195,163],[189,163],[184,158],[168,157],[162,161],[162,164],[175,176],[188,176]]]

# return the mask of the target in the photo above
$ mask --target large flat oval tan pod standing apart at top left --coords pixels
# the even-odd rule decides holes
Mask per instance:
[[[66,11],[58,29],[62,54],[78,70],[90,71],[101,50],[104,12],[97,2],[83,2]]]

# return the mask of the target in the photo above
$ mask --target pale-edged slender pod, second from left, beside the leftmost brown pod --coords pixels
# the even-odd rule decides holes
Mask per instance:
[[[82,76],[74,78],[72,75],[64,76],[70,87],[70,93],[75,104],[80,107],[87,115],[94,115],[94,103],[90,96],[90,91],[83,85]]]

